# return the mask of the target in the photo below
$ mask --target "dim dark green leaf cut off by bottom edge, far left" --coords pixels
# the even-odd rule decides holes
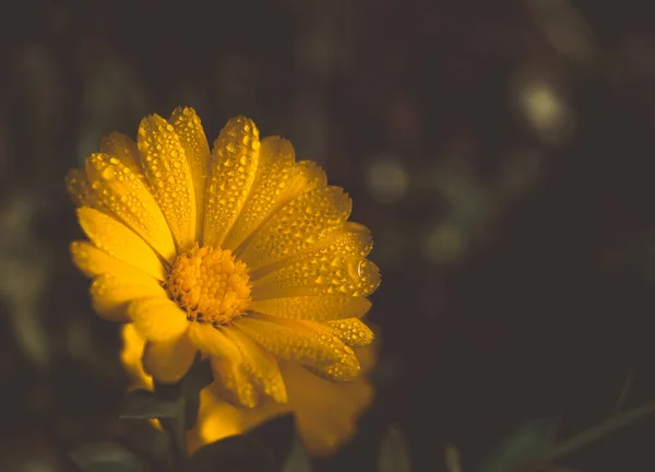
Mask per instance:
[[[73,462],[84,472],[144,472],[143,461],[115,442],[83,445],[70,453]]]

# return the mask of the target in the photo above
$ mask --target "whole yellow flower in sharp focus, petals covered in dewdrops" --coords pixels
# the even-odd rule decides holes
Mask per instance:
[[[112,133],[68,189],[90,241],[71,245],[93,278],[95,310],[133,323],[145,371],[179,380],[196,352],[233,402],[286,402],[278,361],[336,381],[357,378],[353,347],[380,283],[368,229],[323,170],[290,143],[230,119],[210,152],[200,119],[177,108]]]

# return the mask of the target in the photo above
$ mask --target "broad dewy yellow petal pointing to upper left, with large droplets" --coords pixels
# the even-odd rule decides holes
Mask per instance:
[[[98,199],[114,214],[164,259],[175,259],[175,243],[162,210],[129,167],[107,154],[92,154],[86,160],[86,175]]]

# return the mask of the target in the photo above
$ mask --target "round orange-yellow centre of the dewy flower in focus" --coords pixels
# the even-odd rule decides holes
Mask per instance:
[[[165,286],[189,321],[212,324],[225,324],[241,315],[252,288],[248,267],[231,251],[198,245],[177,257]]]

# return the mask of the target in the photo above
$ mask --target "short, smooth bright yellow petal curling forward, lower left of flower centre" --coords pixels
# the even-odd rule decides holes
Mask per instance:
[[[187,314],[166,297],[145,297],[130,302],[128,315],[148,341],[171,341],[189,327]]]

